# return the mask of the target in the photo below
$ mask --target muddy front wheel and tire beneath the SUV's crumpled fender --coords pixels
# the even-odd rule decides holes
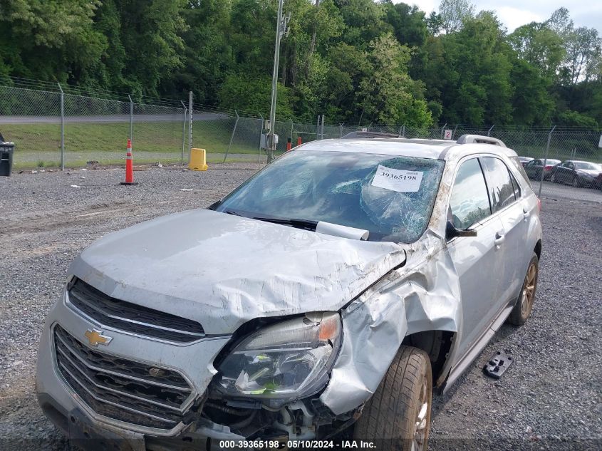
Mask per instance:
[[[385,378],[365,404],[355,440],[378,442],[378,450],[427,450],[432,374],[427,353],[401,346]]]

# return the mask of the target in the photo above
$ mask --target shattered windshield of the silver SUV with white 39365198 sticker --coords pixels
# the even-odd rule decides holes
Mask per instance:
[[[325,221],[370,241],[415,242],[430,219],[444,162],[297,150],[268,165],[215,209],[243,216]]]

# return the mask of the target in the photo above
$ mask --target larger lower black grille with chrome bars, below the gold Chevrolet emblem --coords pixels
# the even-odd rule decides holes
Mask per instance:
[[[192,390],[180,373],[95,351],[58,325],[54,346],[61,375],[96,413],[160,429],[182,420]]]

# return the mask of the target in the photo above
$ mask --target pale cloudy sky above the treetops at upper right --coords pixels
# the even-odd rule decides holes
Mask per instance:
[[[407,4],[415,4],[418,8],[430,14],[440,4],[440,0],[399,0]],[[394,0],[394,3],[398,3]],[[602,36],[602,1],[599,0],[472,0],[474,9],[478,11],[497,11],[497,17],[507,26],[508,32],[514,28],[529,24],[529,22],[545,21],[561,6],[569,9],[571,19],[576,27],[586,26],[596,28]]]

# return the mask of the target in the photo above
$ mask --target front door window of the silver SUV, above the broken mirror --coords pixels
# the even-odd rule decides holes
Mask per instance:
[[[452,190],[450,209],[457,229],[468,229],[491,214],[487,185],[477,158],[460,165]]]

